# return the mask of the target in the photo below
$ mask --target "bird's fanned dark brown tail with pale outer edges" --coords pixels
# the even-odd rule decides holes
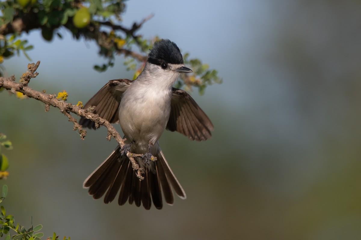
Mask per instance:
[[[157,160],[152,162],[153,167],[145,167],[144,180],[136,177],[132,164],[126,156],[121,156],[120,146],[84,181],[84,188],[89,188],[88,193],[95,199],[104,194],[104,203],[113,201],[119,191],[118,204],[124,205],[127,201],[135,203],[137,207],[143,205],[150,209],[152,202],[157,209],[163,207],[162,191],[165,202],[174,203],[173,190],[182,198],[186,193],[170,169],[165,157],[158,148]],[[142,161],[142,159],[138,159]]]

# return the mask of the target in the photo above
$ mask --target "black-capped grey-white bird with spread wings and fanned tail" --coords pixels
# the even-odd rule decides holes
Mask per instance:
[[[93,113],[110,123],[119,122],[126,138],[125,145],[118,145],[84,181],[83,187],[94,199],[105,194],[104,203],[110,203],[119,192],[119,205],[128,201],[145,209],[150,209],[152,202],[162,209],[162,194],[165,202],[173,205],[173,190],[186,199],[158,139],[165,129],[196,141],[212,136],[214,126],[208,116],[186,91],[173,87],[181,73],[191,72],[184,66],[178,46],[161,39],[149,50],[144,69],[135,80],[110,80],[84,105],[95,106]],[[96,129],[86,117],[81,117],[79,124]],[[143,180],[136,177],[128,152],[142,155],[135,160],[144,169]]]

